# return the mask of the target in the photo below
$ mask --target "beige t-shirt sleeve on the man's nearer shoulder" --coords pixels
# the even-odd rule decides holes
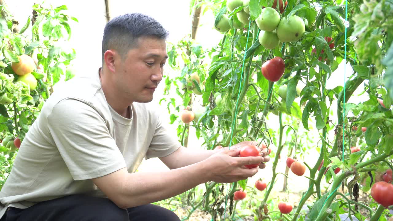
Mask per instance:
[[[53,107],[47,121],[74,180],[102,177],[126,167],[104,118],[89,103],[64,99]]]

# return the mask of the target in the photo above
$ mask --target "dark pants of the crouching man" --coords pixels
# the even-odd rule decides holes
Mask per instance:
[[[166,208],[145,204],[121,209],[106,198],[70,195],[26,209],[9,208],[1,221],[180,221]]]

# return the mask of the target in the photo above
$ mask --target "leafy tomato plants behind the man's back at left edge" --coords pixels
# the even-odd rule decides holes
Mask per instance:
[[[77,18],[64,13],[65,5],[34,4],[32,9],[27,21],[17,21],[0,5],[0,189],[53,85],[74,76],[75,51],[59,42],[70,39],[70,24]]]

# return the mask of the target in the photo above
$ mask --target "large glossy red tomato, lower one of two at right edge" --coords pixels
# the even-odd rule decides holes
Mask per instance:
[[[379,181],[371,187],[371,197],[384,207],[393,205],[393,184]]]

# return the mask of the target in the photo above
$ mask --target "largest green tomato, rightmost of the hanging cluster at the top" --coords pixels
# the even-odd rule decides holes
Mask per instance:
[[[298,41],[305,31],[304,21],[297,15],[281,19],[277,27],[278,39],[282,42]]]

